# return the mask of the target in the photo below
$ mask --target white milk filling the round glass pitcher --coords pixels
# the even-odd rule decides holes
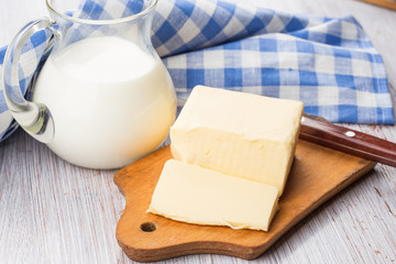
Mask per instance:
[[[176,97],[160,59],[119,37],[74,43],[45,63],[33,101],[55,122],[48,147],[91,168],[124,166],[168,134]]]

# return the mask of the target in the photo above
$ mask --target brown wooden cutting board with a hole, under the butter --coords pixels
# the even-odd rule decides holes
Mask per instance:
[[[145,212],[169,158],[169,147],[164,147],[114,175],[114,183],[127,199],[116,235],[133,261],[152,262],[197,253],[253,260],[309,212],[375,166],[374,162],[300,140],[279,200],[280,209],[270,231],[263,232],[189,224]]]

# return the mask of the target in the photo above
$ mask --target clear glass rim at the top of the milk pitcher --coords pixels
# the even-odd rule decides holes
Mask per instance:
[[[132,15],[128,15],[125,18],[109,19],[109,20],[89,20],[89,19],[74,18],[74,16],[67,15],[63,12],[59,12],[56,10],[56,8],[54,8],[53,0],[45,0],[45,3],[51,12],[54,12],[55,14],[57,14],[66,20],[73,21],[73,22],[84,23],[84,24],[92,24],[92,25],[119,24],[119,23],[130,22],[132,20],[143,18],[143,16],[147,15],[148,13],[151,13],[151,11],[154,10],[157,2],[158,2],[158,0],[153,0],[153,2],[147,8],[142,10],[141,12],[132,14]]]

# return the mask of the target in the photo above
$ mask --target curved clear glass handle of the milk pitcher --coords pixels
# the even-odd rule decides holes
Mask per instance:
[[[38,31],[50,30],[52,32],[53,36],[47,43],[44,54],[50,51],[54,44],[54,36],[61,37],[54,24],[55,22],[51,19],[43,18],[25,25],[7,48],[2,73],[4,98],[12,117],[30,135],[43,143],[50,143],[54,138],[54,120],[45,105],[24,99],[20,87],[18,65],[23,46]]]

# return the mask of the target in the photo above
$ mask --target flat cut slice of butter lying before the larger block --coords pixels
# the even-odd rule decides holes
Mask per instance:
[[[277,196],[275,186],[169,160],[147,211],[196,224],[267,231]]]

